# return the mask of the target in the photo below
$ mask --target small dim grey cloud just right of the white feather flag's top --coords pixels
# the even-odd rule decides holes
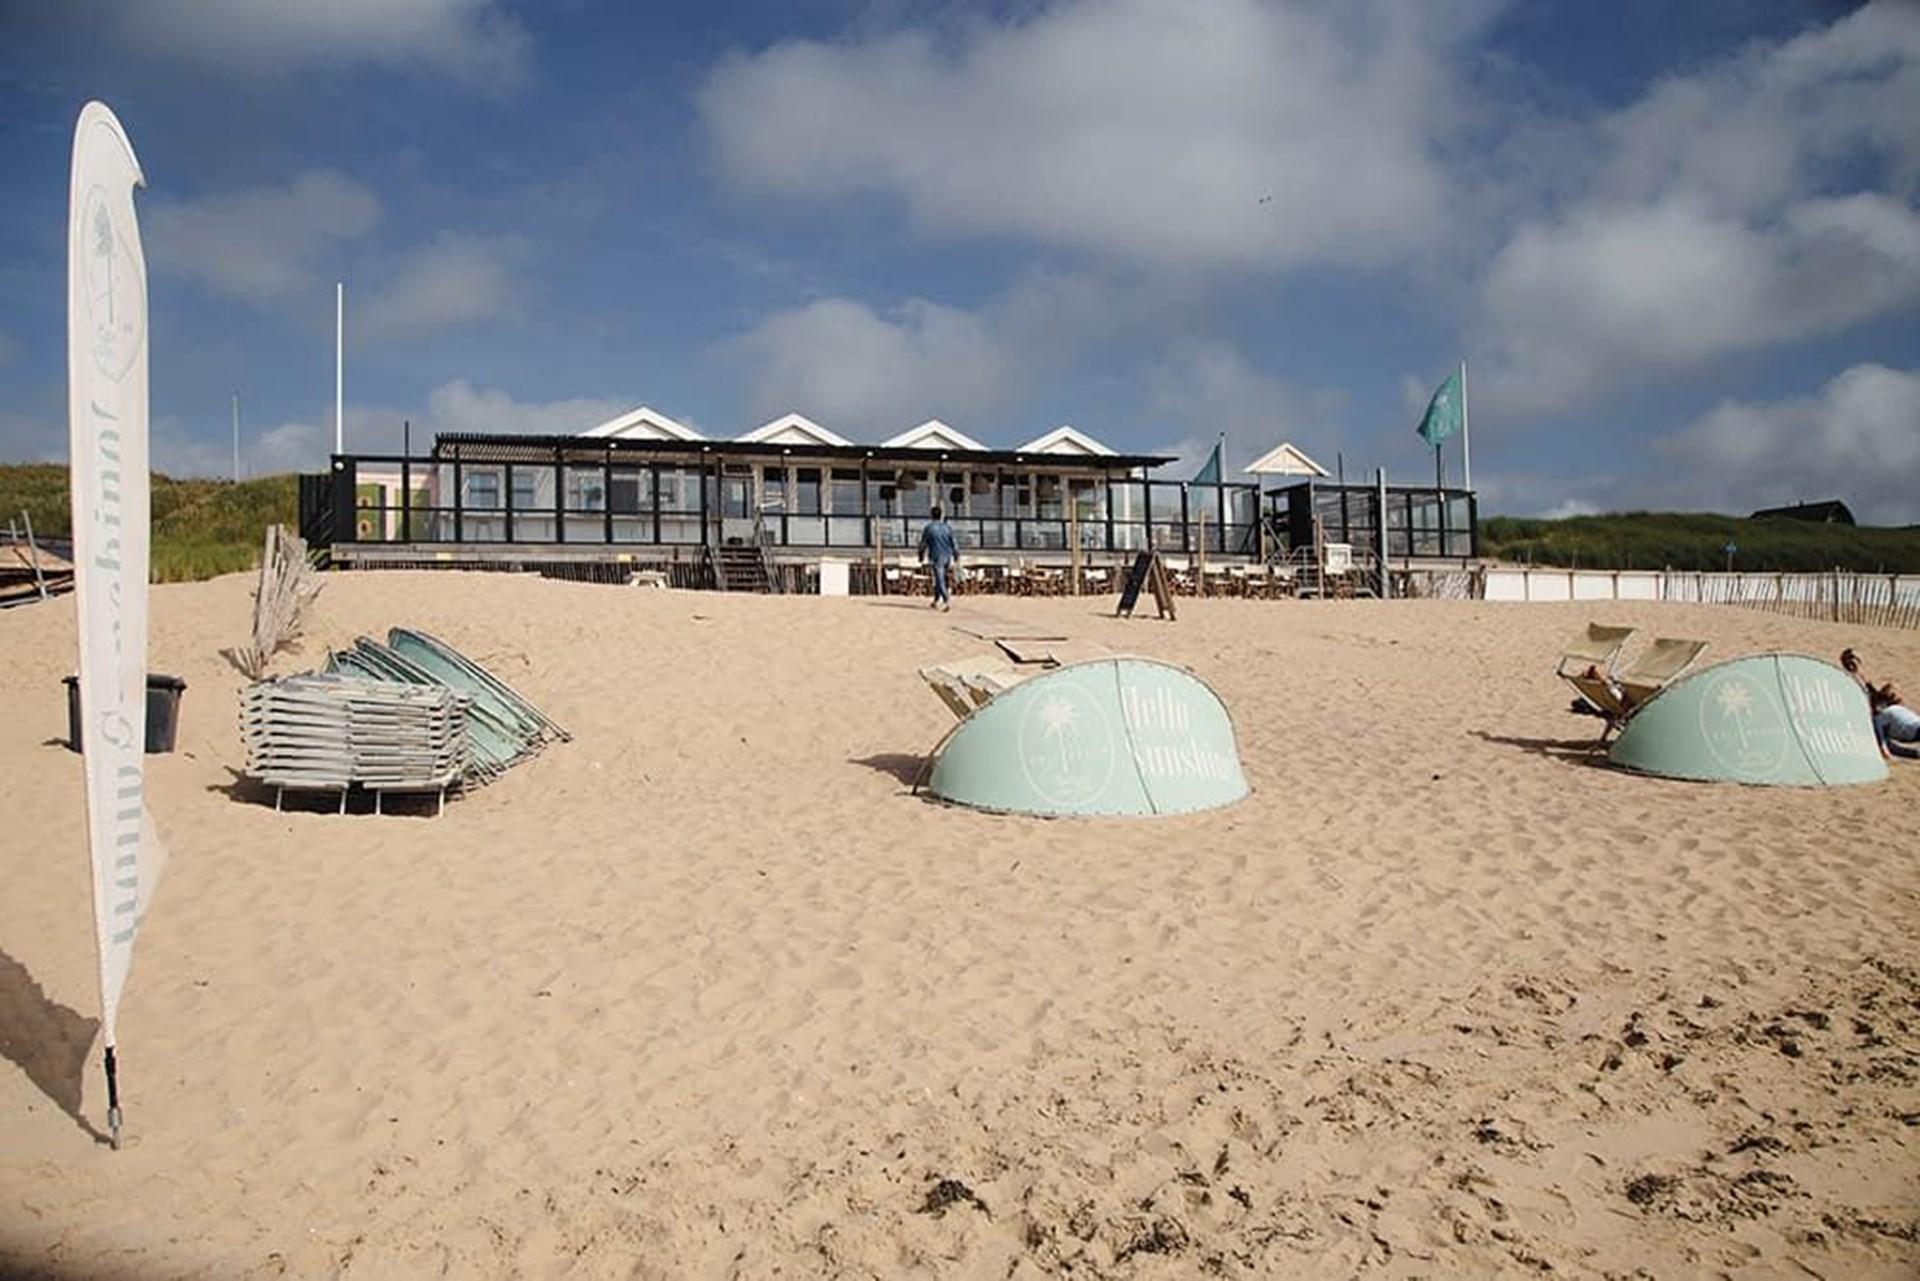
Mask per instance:
[[[271,303],[313,288],[319,261],[372,230],[380,202],[353,179],[309,169],[288,186],[156,200],[144,221],[154,271]]]

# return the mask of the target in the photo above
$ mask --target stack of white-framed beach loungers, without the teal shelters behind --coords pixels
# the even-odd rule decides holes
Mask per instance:
[[[445,801],[467,774],[470,699],[447,688],[394,686],[319,674],[263,680],[240,695],[246,772],[275,787],[275,809],[296,791],[374,795],[432,791]]]

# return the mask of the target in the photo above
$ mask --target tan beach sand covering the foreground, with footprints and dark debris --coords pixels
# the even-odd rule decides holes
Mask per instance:
[[[1551,676],[1920,634],[1663,605],[724,597],[338,574],[276,672],[411,624],[572,743],[438,818],[238,780],[250,580],[154,592],[173,860],[100,1141],[73,601],[0,615],[0,1271],[1905,1277],[1920,762],[1634,778]],[[1014,616],[1185,663],[1254,795],[916,799],[918,665]]]

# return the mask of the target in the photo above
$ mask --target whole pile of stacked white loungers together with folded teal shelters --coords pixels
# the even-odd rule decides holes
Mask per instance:
[[[570,737],[553,718],[451,645],[407,628],[361,636],[326,672],[242,693],[248,774],[273,787],[438,791],[484,784]]]

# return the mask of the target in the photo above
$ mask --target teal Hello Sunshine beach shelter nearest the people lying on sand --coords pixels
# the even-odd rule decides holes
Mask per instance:
[[[1730,659],[1672,682],[1626,720],[1607,759],[1663,778],[1786,787],[1887,776],[1866,691],[1797,653]]]

